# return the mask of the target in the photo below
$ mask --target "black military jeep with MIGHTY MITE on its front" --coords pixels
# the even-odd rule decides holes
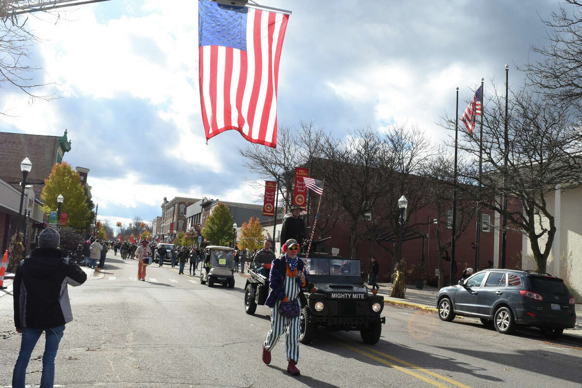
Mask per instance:
[[[300,257],[301,258],[301,257]],[[306,262],[308,286],[300,294],[299,341],[313,341],[317,330],[359,330],[364,343],[375,344],[382,333],[380,316],[384,298],[368,292],[360,275],[360,261],[317,253]],[[264,305],[269,292],[268,279],[249,269],[244,293],[244,309],[254,314]]]

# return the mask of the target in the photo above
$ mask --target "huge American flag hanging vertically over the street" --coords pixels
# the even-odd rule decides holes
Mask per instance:
[[[276,147],[279,60],[289,15],[198,1],[200,104],[206,140],[236,129]]]

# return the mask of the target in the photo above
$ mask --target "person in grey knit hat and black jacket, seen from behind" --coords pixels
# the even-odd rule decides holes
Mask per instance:
[[[42,332],[41,387],[52,387],[55,380],[55,357],[65,324],[73,321],[68,284],[80,286],[86,273],[58,248],[61,236],[52,227],[38,235],[38,245],[20,263],[14,277],[14,325],[22,333],[20,353],[12,373],[12,386],[24,388],[26,367]],[[6,351],[6,354],[9,352]],[[36,369],[36,367],[35,367]]]

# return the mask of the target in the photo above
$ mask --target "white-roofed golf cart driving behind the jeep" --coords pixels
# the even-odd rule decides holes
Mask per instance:
[[[228,286],[229,289],[235,288],[233,251],[233,248],[220,247],[219,245],[206,247],[204,270],[200,275],[200,284],[208,282],[208,287],[212,287],[215,283],[221,283],[225,287]]]

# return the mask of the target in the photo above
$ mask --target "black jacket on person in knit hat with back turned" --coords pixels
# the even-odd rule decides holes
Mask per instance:
[[[67,284],[80,286],[87,274],[61,250],[36,248],[20,262],[14,277],[14,325],[46,329],[73,320]]]

